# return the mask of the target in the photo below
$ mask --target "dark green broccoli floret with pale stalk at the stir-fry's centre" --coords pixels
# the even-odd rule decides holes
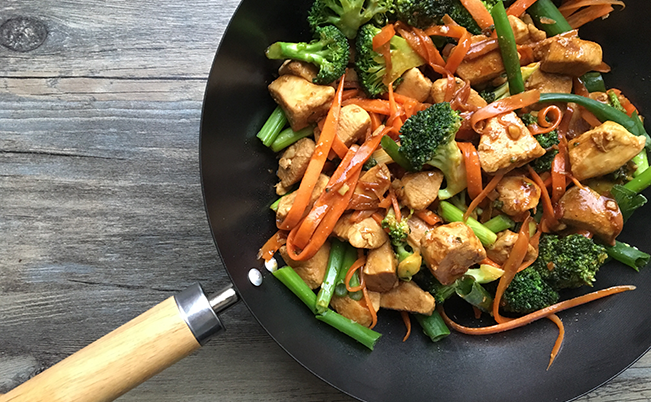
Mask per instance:
[[[443,172],[447,187],[439,190],[442,200],[467,186],[463,156],[454,140],[461,120],[449,102],[442,102],[411,116],[400,129],[400,152],[414,169],[421,170],[428,164]]]

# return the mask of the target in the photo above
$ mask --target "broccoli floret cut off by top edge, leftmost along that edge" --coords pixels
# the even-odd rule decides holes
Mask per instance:
[[[393,9],[393,0],[314,0],[307,21],[313,30],[324,25],[334,25],[348,39],[371,19],[384,20],[385,13]]]

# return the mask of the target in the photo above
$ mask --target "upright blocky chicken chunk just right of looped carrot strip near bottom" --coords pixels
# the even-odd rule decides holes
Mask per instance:
[[[362,268],[366,288],[374,292],[387,292],[398,284],[398,259],[391,242],[370,250]]]

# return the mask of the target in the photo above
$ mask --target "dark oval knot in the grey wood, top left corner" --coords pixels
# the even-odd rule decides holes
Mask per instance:
[[[47,27],[35,18],[15,17],[0,25],[0,44],[17,52],[29,52],[41,46]]]

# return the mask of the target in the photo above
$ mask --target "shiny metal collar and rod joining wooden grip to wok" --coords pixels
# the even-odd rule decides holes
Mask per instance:
[[[174,299],[194,337],[204,345],[210,337],[224,329],[217,313],[235,303],[238,297],[235,290],[228,287],[209,300],[201,285],[195,283],[176,294]]]

